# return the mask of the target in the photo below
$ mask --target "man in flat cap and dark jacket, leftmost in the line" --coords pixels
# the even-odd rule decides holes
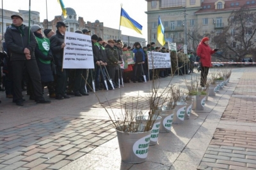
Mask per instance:
[[[12,61],[13,102],[18,106],[24,105],[21,84],[24,67],[26,67],[33,83],[36,103],[51,103],[51,101],[45,100],[42,95],[41,78],[35,60],[35,36],[29,27],[22,24],[23,18],[20,15],[12,15],[11,18],[12,25],[6,29],[4,39]]]

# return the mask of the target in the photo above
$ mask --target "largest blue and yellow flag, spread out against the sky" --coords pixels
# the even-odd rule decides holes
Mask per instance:
[[[120,25],[127,27],[129,29],[134,29],[136,32],[142,34],[142,25],[133,20],[126,11],[121,8],[121,17],[120,17]]]

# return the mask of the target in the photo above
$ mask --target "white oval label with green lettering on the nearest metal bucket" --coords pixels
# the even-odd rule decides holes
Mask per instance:
[[[141,159],[147,158],[149,143],[150,134],[139,139],[138,141],[136,141],[136,143],[134,143],[132,147],[133,153]]]

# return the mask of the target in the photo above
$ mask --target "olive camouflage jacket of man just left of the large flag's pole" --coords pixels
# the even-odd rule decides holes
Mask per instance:
[[[110,45],[106,45],[105,50],[108,58],[108,66],[118,66],[117,62],[119,57],[117,50],[115,48],[112,48]]]

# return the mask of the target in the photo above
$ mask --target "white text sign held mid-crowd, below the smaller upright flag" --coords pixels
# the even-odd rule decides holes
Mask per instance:
[[[148,68],[161,69],[171,67],[170,53],[150,52],[148,53]]]

